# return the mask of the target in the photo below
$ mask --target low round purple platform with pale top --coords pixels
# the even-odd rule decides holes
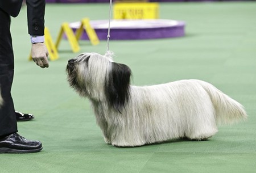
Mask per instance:
[[[108,35],[108,20],[90,20],[90,25],[97,33],[99,40],[106,40]],[[69,26],[76,32],[80,22],[70,23]],[[185,22],[167,19],[145,20],[111,20],[110,40],[141,40],[181,37],[185,35]],[[89,40],[83,32],[81,40]]]

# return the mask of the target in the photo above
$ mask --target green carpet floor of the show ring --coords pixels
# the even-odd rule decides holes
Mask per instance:
[[[108,19],[109,5],[47,4],[46,26],[56,40],[63,22]],[[13,98],[16,110],[35,119],[19,122],[22,136],[40,140],[34,154],[1,154],[0,172],[256,172],[256,3],[160,3],[160,18],[184,20],[185,37],[175,39],[110,41],[115,61],[133,71],[133,85],[153,85],[179,79],[212,83],[245,106],[249,118],[221,126],[208,141],[174,141],[135,148],[104,143],[87,99],[68,86],[65,66],[81,52],[105,53],[80,41],[72,53],[66,40],[60,58],[48,69],[28,61],[26,8],[12,19],[15,50]]]

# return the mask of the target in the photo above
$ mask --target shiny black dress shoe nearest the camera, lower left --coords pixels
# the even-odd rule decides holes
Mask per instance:
[[[18,133],[0,139],[0,153],[36,153],[42,149],[40,141],[26,140]]]

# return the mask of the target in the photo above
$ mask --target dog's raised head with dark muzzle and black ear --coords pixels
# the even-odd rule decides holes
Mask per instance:
[[[80,96],[107,102],[121,112],[129,99],[131,70],[113,62],[112,53],[82,53],[68,61],[68,82]]]

